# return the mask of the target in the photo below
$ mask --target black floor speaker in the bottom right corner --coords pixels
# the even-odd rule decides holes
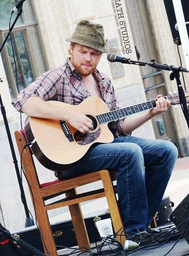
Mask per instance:
[[[189,194],[182,200],[182,202],[180,202],[175,210],[170,213],[169,217],[176,226],[179,226],[181,223],[183,223],[183,221],[189,218]],[[187,222],[183,223],[180,227],[178,227],[180,233],[183,232],[186,224]],[[183,237],[189,244],[189,221]]]

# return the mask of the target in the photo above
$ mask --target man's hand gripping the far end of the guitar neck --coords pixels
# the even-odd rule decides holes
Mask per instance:
[[[162,95],[158,95],[156,100],[156,107],[149,110],[150,117],[154,117],[160,113],[167,111],[170,106],[170,100],[166,100]]]

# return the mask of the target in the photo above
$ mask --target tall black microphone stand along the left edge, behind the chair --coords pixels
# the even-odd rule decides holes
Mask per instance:
[[[2,43],[2,46],[0,47],[0,52],[2,51],[5,43],[6,43],[7,39],[8,39],[11,31],[13,30],[13,27],[15,26],[15,23],[17,22],[17,19],[21,15],[21,13],[22,13],[22,6],[20,6],[19,9],[18,9],[17,17],[15,18],[15,20],[14,20],[14,22],[13,22],[13,24],[12,24],[10,30],[9,30],[9,33],[7,34],[4,42]],[[0,82],[3,82],[3,81],[0,80]],[[10,145],[10,148],[11,148],[11,153],[12,153],[12,157],[13,157],[13,163],[15,165],[15,170],[16,170],[16,173],[17,173],[17,178],[18,178],[18,182],[19,182],[20,192],[21,192],[21,195],[22,195],[22,202],[24,204],[24,210],[25,210],[25,213],[26,213],[25,227],[33,226],[34,223],[33,223],[33,220],[30,217],[30,214],[29,214],[29,210],[28,210],[28,206],[27,206],[27,202],[26,202],[26,197],[25,197],[24,189],[23,189],[22,182],[21,182],[18,161],[17,161],[17,158],[16,158],[15,149],[14,149],[14,146],[13,146],[13,141],[12,141],[12,138],[11,138],[11,133],[10,133],[10,130],[9,130],[9,124],[8,124],[8,121],[7,121],[6,111],[5,111],[5,107],[3,106],[1,94],[0,94],[0,108],[1,108],[1,113],[3,115],[3,120],[4,120],[4,124],[5,124],[5,128],[6,128],[6,132],[7,132],[7,137],[8,137],[8,140],[9,140],[9,145]]]

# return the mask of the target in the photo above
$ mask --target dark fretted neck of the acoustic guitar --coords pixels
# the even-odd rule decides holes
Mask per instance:
[[[163,97],[168,99],[167,96]],[[156,100],[146,101],[144,103],[140,103],[137,105],[133,105],[127,108],[120,108],[113,111],[109,111],[107,113],[103,113],[100,115],[96,115],[96,119],[98,124],[105,124],[107,122],[115,121],[123,117],[127,117],[128,115],[133,115],[135,113],[139,113],[148,109],[152,109],[156,107]]]

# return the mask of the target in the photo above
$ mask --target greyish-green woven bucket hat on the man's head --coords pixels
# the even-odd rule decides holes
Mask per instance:
[[[75,32],[71,37],[65,39],[72,43],[89,46],[100,52],[108,52],[106,41],[104,39],[104,28],[101,24],[90,22],[89,20],[81,20]]]

